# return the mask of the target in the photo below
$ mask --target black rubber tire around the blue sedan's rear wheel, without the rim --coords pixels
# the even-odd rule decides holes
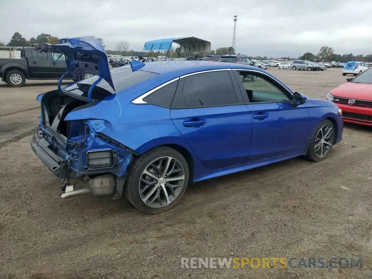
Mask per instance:
[[[157,158],[164,157],[164,156],[171,156],[176,158],[183,166],[185,172],[185,179],[183,188],[170,204],[160,207],[160,208],[153,208],[145,204],[140,196],[139,193],[139,183],[142,175],[142,171],[150,164],[152,161],[156,160]],[[132,165],[131,169],[129,170],[128,177],[125,181],[124,191],[125,197],[128,199],[132,205],[134,205],[137,209],[149,213],[149,214],[156,214],[160,212],[167,211],[168,209],[172,208],[176,203],[182,198],[183,194],[186,191],[187,184],[189,183],[189,166],[187,164],[186,159],[180,154],[178,151],[174,150],[173,148],[161,146],[156,147],[147,153],[141,155],[134,164]]]

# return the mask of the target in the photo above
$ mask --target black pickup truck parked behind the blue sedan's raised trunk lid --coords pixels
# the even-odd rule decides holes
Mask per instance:
[[[25,47],[21,58],[0,58],[0,77],[11,87],[22,87],[29,80],[58,80],[67,71],[64,54],[38,52],[33,47]],[[80,79],[93,76],[83,73]],[[73,79],[71,74],[64,79]]]

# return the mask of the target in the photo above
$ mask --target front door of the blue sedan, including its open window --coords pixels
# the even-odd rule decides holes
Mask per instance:
[[[248,161],[303,151],[310,120],[306,105],[293,106],[292,93],[267,74],[234,72],[252,117]]]

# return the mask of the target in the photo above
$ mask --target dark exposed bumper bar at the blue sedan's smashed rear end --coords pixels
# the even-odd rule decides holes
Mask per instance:
[[[67,164],[50,150],[49,142],[41,135],[34,134],[31,140],[31,149],[39,159],[54,173],[55,176],[64,177],[67,173]]]

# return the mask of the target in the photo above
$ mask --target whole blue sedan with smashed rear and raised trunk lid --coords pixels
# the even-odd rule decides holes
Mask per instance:
[[[307,99],[256,67],[132,61],[110,71],[94,37],[35,47],[64,54],[74,75],[99,71],[38,96],[31,148],[66,181],[64,198],[124,195],[141,211],[159,213],[189,183],[301,155],[321,161],[342,138],[334,103]],[[75,189],[70,178],[87,186]]]

